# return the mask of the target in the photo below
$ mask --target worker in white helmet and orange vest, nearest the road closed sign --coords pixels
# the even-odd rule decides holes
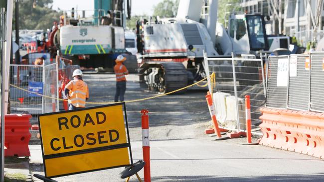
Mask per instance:
[[[64,90],[69,101],[69,110],[85,107],[86,100],[89,98],[89,89],[82,80],[82,71],[74,70],[72,77],[73,80],[65,86]]]

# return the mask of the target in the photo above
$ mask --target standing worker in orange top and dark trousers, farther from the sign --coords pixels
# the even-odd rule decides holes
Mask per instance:
[[[116,94],[115,94],[115,102],[118,102],[118,97],[120,101],[124,101],[124,94],[126,91],[126,77],[128,75],[128,70],[123,62],[126,58],[122,55],[119,55],[115,62],[116,65],[114,67],[115,74],[116,74]]]

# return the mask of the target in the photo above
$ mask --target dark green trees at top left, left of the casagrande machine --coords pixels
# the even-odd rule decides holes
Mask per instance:
[[[53,0],[19,0],[19,29],[46,30],[53,26],[53,21],[59,21],[62,12],[52,9]]]

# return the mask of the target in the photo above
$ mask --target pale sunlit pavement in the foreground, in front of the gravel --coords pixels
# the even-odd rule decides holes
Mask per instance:
[[[324,161],[260,145],[241,145],[245,139],[211,138],[151,141],[153,182],[319,182]],[[134,162],[143,159],[142,142],[131,143]],[[32,173],[43,174],[40,145],[29,146]],[[105,157],[102,158],[105,160]],[[123,168],[56,178],[59,182],[123,182]],[[143,178],[143,171],[139,173]],[[34,182],[37,180],[33,179]],[[135,177],[132,178],[136,182]]]

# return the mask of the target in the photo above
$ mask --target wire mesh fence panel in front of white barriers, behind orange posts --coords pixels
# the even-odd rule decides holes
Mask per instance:
[[[258,129],[258,125],[261,123],[259,109],[265,103],[263,60],[249,58],[207,58],[207,60],[209,74],[215,73],[216,85],[213,86],[213,93],[225,92],[235,95],[236,88],[237,101],[234,100],[233,103],[231,96],[226,98],[227,110],[231,107],[234,109],[227,112],[223,127],[235,128],[233,119],[237,121],[238,115],[240,129],[245,130],[245,95],[250,95],[252,129]],[[233,78],[232,63],[234,63],[235,78]],[[235,109],[236,105],[238,113]]]

